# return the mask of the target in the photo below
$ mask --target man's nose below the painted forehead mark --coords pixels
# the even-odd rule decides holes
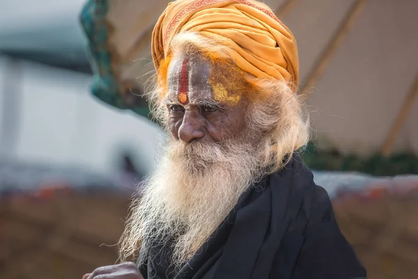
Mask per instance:
[[[193,112],[185,112],[183,123],[178,128],[178,138],[183,142],[193,142],[201,140],[205,137],[205,128],[203,127],[203,119],[199,119]]]

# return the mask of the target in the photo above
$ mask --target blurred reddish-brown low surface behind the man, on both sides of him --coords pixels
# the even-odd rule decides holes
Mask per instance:
[[[418,183],[378,181],[333,199],[369,279],[418,278]],[[45,197],[47,197],[45,199]],[[130,199],[67,193],[0,202],[0,278],[81,278],[114,264]],[[106,245],[101,245],[106,244]]]

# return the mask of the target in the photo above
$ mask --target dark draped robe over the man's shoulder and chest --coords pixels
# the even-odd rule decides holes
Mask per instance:
[[[150,251],[139,266],[144,278],[366,278],[327,192],[297,155],[247,190],[180,271],[169,266],[169,254],[159,246]]]

